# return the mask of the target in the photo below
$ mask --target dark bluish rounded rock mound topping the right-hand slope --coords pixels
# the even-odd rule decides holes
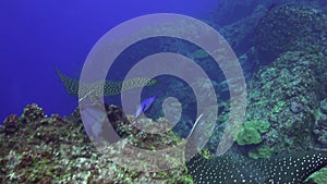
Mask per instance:
[[[271,9],[256,26],[261,62],[269,63],[286,51],[319,47],[327,52],[327,16],[312,8],[284,4]]]

